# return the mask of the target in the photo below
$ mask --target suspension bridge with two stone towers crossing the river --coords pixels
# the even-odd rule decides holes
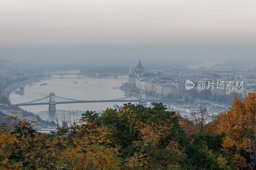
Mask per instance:
[[[139,104],[146,105],[146,101],[150,102],[164,102],[170,100],[146,100],[145,91],[140,91],[140,97],[129,96],[120,99],[112,99],[112,100],[75,100],[68,99],[59,96],[55,96],[54,92],[50,92],[49,96],[28,101],[25,103],[14,104],[17,106],[33,106],[33,105],[49,105],[49,110],[56,110],[56,104],[68,104],[68,103],[101,103],[101,102],[139,102]]]

